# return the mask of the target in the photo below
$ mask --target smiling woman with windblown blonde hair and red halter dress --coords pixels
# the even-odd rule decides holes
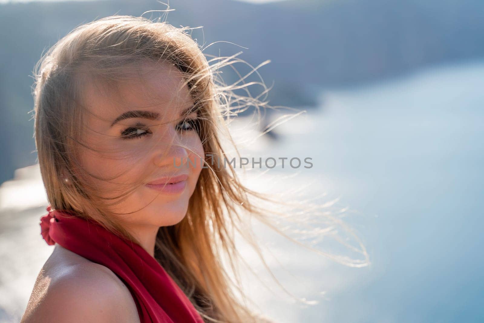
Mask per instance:
[[[265,220],[249,199],[264,197],[213,162],[232,93],[214,70],[227,64],[184,29],[132,16],[80,26],[45,54],[35,140],[55,248],[22,322],[265,322],[221,261],[235,267],[242,211]]]

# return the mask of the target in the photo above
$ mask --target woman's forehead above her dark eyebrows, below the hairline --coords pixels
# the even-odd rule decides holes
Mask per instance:
[[[194,104],[180,71],[166,63],[140,66],[137,75],[111,82],[92,79],[83,88],[86,108],[107,120],[136,109],[157,110],[162,116],[170,116]]]

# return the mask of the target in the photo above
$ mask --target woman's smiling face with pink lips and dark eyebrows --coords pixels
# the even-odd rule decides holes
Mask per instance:
[[[89,112],[99,116],[86,114],[84,134],[88,147],[98,152],[81,148],[81,166],[102,178],[121,174],[109,182],[94,180],[102,196],[116,196],[134,187],[132,183],[143,181],[112,208],[117,213],[136,211],[119,215],[127,228],[180,222],[195,190],[204,154],[197,133],[197,112],[185,113],[194,102],[187,86],[181,88],[184,79],[178,69],[169,64],[155,71],[149,67],[152,65],[140,66],[144,82],[119,82],[116,90],[109,91],[90,82],[83,97]],[[148,185],[150,182],[178,183],[163,188],[163,184]]]

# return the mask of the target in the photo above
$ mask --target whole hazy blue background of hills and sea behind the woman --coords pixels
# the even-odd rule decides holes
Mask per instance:
[[[244,154],[313,157],[314,167],[296,177],[285,177],[291,169],[268,175],[281,190],[312,183],[312,192],[339,198],[336,205],[351,210],[348,223],[370,254],[371,266],[348,268],[262,231],[296,277],[274,262],[282,283],[319,304],[300,308],[248,283],[261,309],[277,322],[484,322],[484,2],[170,6],[176,11],[169,23],[203,26],[203,34],[194,31],[200,42],[249,48],[216,44],[207,53],[242,50],[253,65],[272,61],[259,70],[268,85],[275,82],[271,104],[308,113],[276,128],[277,140],[262,137]],[[46,201],[38,169],[23,168],[36,162],[28,113],[32,68],[45,48],[81,23],[155,9],[165,7],[155,1],[0,5],[0,183],[6,181],[0,320],[18,321],[51,252],[39,235]],[[248,183],[268,186],[250,176]]]

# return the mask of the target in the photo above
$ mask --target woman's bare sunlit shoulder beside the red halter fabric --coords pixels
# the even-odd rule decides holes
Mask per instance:
[[[21,322],[127,323],[139,317],[131,293],[111,270],[56,245]]]

